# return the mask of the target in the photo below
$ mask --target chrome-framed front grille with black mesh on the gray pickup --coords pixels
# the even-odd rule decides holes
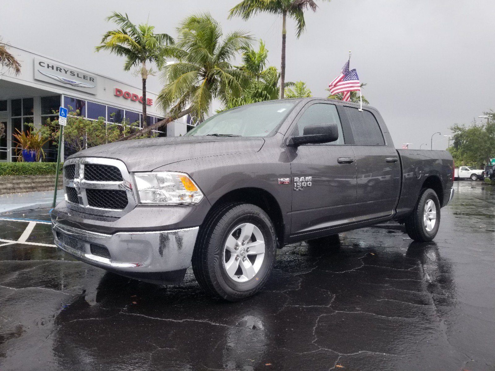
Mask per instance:
[[[130,174],[120,160],[78,157],[64,163],[67,207],[88,214],[121,217],[136,206]]]

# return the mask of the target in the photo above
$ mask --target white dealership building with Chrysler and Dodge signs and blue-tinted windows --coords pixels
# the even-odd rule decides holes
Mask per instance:
[[[32,51],[7,46],[8,51],[21,63],[21,73],[0,69],[0,123],[6,135],[0,139],[0,161],[16,161],[12,134],[15,129],[27,129],[28,123],[39,127],[48,118],[55,119],[59,106],[76,112],[87,119],[103,117],[107,123],[142,123],[142,88],[83,70]],[[163,118],[156,105],[156,93],[146,92],[148,125]],[[160,128],[160,137],[184,135],[193,126],[191,117],[183,117]],[[14,147],[14,148],[13,148]],[[46,161],[54,161],[56,148],[50,144],[45,151]],[[63,149],[62,149],[63,150]],[[69,154],[65,150],[65,157]],[[62,152],[63,153],[63,152]],[[63,158],[63,157],[62,157]]]

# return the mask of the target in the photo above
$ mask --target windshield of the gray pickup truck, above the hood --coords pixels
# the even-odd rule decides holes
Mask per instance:
[[[275,100],[232,108],[205,120],[186,136],[266,137],[298,102]]]

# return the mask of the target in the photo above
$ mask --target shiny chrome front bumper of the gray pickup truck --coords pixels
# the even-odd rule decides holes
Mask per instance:
[[[191,264],[199,230],[194,227],[103,234],[69,227],[53,219],[51,226],[55,244],[76,259],[124,276],[137,273],[137,277],[145,278],[147,273],[185,272]]]

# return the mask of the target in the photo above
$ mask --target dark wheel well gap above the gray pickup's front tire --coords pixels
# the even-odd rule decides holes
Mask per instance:
[[[278,247],[283,246],[284,241],[284,218],[282,210],[275,197],[268,191],[261,188],[239,188],[231,190],[220,197],[211,210],[227,202],[246,202],[258,206],[268,214],[277,232]]]

